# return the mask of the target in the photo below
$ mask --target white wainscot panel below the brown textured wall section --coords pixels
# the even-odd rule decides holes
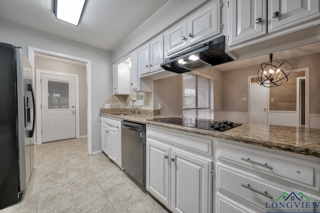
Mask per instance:
[[[269,111],[268,113],[268,123],[270,125],[296,127],[296,119],[296,111]]]

